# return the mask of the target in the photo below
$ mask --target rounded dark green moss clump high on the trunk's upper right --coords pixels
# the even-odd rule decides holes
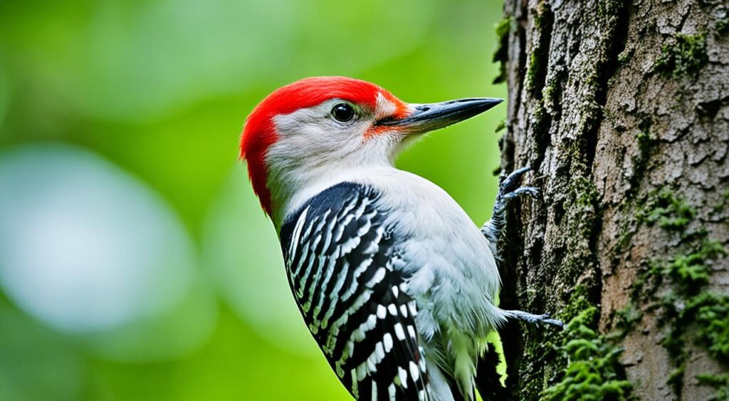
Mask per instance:
[[[674,44],[661,47],[660,56],[655,62],[657,71],[676,78],[695,74],[709,62],[706,35],[703,32],[695,35],[677,34],[674,39]]]

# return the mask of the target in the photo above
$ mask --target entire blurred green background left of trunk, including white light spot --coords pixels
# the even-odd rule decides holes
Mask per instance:
[[[238,160],[271,90],[504,97],[501,1],[0,0],[0,400],[346,400]],[[477,224],[505,106],[398,166]]]

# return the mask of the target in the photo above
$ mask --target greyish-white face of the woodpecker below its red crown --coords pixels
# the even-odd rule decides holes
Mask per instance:
[[[343,110],[335,112],[338,107],[354,113],[351,118],[342,118],[347,114]],[[391,166],[402,149],[405,133],[394,127],[375,127],[375,122],[396,110],[397,106],[384,96],[379,96],[375,110],[335,98],[274,117],[278,139],[266,155],[274,201],[290,195],[284,189],[295,191],[334,172]]]

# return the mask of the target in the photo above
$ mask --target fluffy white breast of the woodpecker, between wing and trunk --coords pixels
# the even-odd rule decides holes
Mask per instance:
[[[402,250],[413,297],[432,308],[437,322],[463,319],[464,327],[492,322],[499,273],[488,240],[445,190],[415,174],[390,171],[367,182],[389,210],[386,224]],[[429,304],[431,306],[428,306]]]

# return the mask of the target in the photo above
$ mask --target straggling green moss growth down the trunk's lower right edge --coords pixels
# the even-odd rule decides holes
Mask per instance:
[[[662,345],[676,368],[667,382],[680,394],[688,357],[687,343],[693,342],[717,361],[729,363],[729,295],[716,294],[706,288],[714,261],[727,256],[728,252],[722,244],[709,238],[703,228],[691,233],[687,231],[695,211],[670,190],[649,195],[636,217],[639,222],[658,224],[682,238],[679,249],[683,252],[648,263],[634,282],[632,296],[633,302],[649,301],[648,310],[656,311],[658,324],[668,329]],[[625,315],[630,316],[627,308]],[[727,392],[725,385],[714,387],[717,399]]]

